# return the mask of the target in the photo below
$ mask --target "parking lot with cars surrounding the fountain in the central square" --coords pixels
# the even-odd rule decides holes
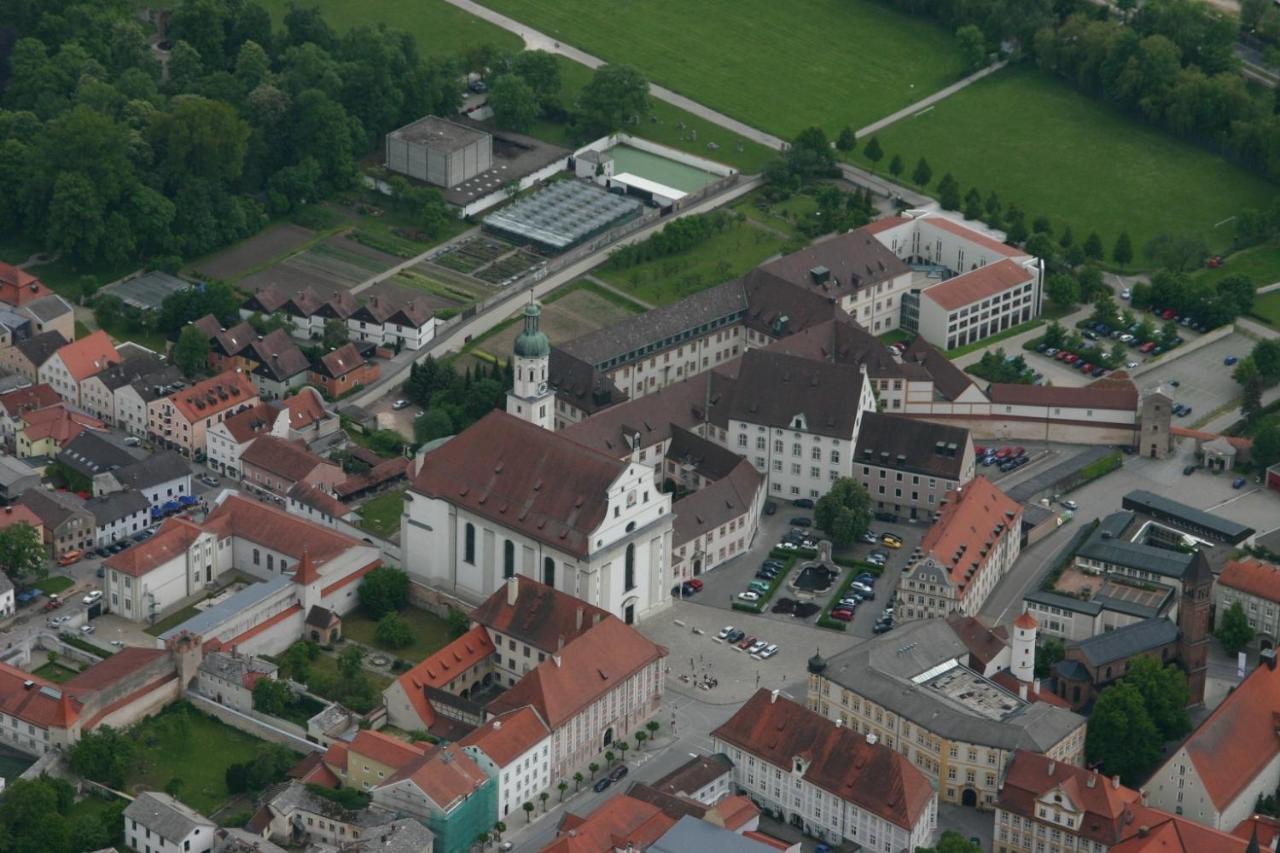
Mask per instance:
[[[772,551],[782,535],[787,530],[792,529],[790,521],[796,516],[812,519],[813,510],[792,507],[790,503],[780,503],[776,515],[763,516],[755,540],[751,543],[751,548],[733,560],[717,566],[712,571],[704,573],[700,576],[703,581],[703,590],[691,597],[690,602],[707,608],[726,611],[724,619],[727,622],[732,622],[735,619],[740,619],[742,616],[750,616],[750,613],[735,611],[732,608],[733,601],[737,598],[740,592],[748,588],[748,584],[755,580],[755,573],[759,571],[760,565],[769,558],[769,551]],[[925,529],[927,525],[924,524],[890,524],[873,520],[872,530],[877,533],[895,534],[902,540],[902,547],[892,549],[881,544],[873,546],[858,543],[852,548],[837,552],[836,556],[838,557],[851,557],[855,560],[865,560],[867,555],[874,548],[883,548],[890,555],[888,561],[884,565],[884,571],[876,583],[876,601],[864,602],[856,608],[854,620],[847,626],[847,634],[852,634],[855,637],[872,637],[872,628],[874,626],[876,617],[879,616],[884,606],[888,605],[890,594],[897,587],[897,579],[901,575],[902,566],[906,564],[906,558],[915,546],[919,544]],[[814,532],[814,535],[818,538],[822,537],[822,534],[817,532]],[[791,574],[787,576],[788,579],[799,571],[803,562],[804,560],[796,561],[795,567],[792,567]],[[847,571],[849,570],[842,569],[831,589],[817,594],[813,598],[813,603],[818,605],[819,608],[826,607],[835,596],[836,590],[849,576]],[[783,580],[783,584],[773,594],[773,598],[769,599],[765,612],[760,613],[758,619],[785,622],[787,625],[808,625],[820,634],[833,633],[829,629],[817,628],[817,613],[805,619],[797,619],[790,613],[772,612],[772,607],[781,598],[795,598],[787,588],[786,580]]]

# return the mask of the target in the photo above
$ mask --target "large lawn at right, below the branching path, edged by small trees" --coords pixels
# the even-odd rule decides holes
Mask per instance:
[[[1276,187],[1032,68],[1006,69],[878,134],[883,172],[895,154],[947,172],[961,193],[992,190],[1030,222],[1047,215],[1076,240],[1097,231],[1110,255],[1121,231],[1142,247],[1160,232],[1196,233],[1221,251],[1242,207],[1266,207]],[[859,151],[861,156],[861,151]],[[864,161],[865,164],[865,161]],[[931,187],[932,188],[932,187]]]

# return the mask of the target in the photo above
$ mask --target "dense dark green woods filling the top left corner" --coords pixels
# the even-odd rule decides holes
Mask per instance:
[[[180,0],[166,54],[129,0],[9,4],[0,228],[77,264],[189,257],[351,184],[385,132],[460,101],[454,63],[316,9]]]

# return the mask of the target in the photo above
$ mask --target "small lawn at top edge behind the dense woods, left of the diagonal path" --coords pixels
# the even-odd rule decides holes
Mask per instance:
[[[417,38],[424,56],[453,56],[481,45],[520,50],[520,37],[451,6],[444,0],[292,0],[317,6],[329,26],[343,32],[357,24],[385,23]],[[260,0],[279,24],[291,0]]]

